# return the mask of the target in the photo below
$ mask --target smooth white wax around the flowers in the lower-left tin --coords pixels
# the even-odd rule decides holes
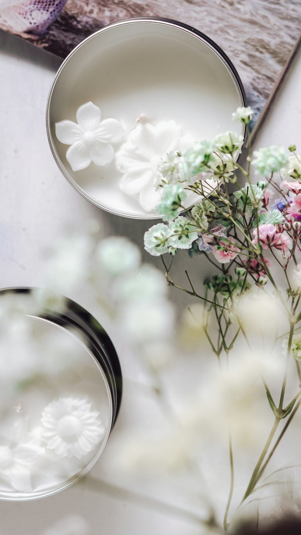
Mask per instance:
[[[99,412],[98,420],[101,419],[105,431],[91,451],[81,458],[60,456],[47,447],[43,438],[38,442],[45,448],[45,454],[27,467],[30,491],[18,494],[10,474],[5,476],[7,467],[4,466],[3,473],[3,467],[0,469],[0,498],[30,498],[55,492],[76,479],[106,444],[112,424],[112,399],[107,380],[78,333],[40,318],[26,317],[24,325],[19,321],[16,328],[11,331],[9,328],[5,345],[0,346],[0,358],[6,360],[7,371],[0,401],[0,447],[9,446],[14,452],[19,444],[40,437],[42,412],[53,400],[87,400],[91,411]],[[18,407],[21,411],[16,410]],[[11,442],[10,436],[16,437],[13,429],[25,429],[28,438],[14,438]],[[20,464],[14,466],[18,472]]]

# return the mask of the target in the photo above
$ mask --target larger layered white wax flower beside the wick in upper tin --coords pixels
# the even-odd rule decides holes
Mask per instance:
[[[138,124],[130,132],[128,141],[115,154],[122,192],[137,195],[146,212],[156,208],[160,193],[155,189],[158,165],[167,152],[189,148],[191,136],[181,136],[181,127],[175,121]]]

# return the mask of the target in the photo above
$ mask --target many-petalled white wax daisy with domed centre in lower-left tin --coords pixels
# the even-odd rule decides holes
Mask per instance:
[[[61,457],[77,457],[91,452],[105,429],[97,410],[87,399],[59,398],[42,412],[42,437],[47,447]]]

